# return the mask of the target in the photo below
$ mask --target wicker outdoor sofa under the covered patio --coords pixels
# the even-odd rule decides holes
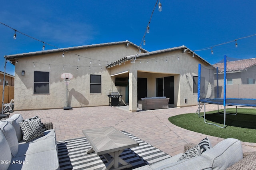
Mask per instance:
[[[145,97],[138,101],[138,108],[142,110],[168,109],[169,98],[166,97]]]

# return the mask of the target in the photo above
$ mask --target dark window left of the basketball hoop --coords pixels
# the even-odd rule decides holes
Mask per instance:
[[[49,72],[34,72],[34,94],[49,94]]]

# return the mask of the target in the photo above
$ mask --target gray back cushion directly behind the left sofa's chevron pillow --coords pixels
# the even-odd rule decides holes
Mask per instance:
[[[20,114],[14,114],[12,115],[12,117],[6,119],[10,124],[12,124],[12,126],[14,127],[15,131],[16,131],[16,136],[18,138],[18,141],[23,139],[22,136],[22,131],[19,125],[19,122],[22,122],[23,117]]]

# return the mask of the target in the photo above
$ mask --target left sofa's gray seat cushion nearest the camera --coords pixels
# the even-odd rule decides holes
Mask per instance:
[[[47,150],[26,156],[12,158],[12,162],[22,161],[23,164],[10,164],[8,170],[59,170],[58,153]]]

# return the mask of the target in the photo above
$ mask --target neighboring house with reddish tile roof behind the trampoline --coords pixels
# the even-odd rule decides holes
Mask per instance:
[[[219,71],[219,97],[223,97],[224,63],[213,65]],[[226,64],[227,98],[256,99],[256,58],[227,61]]]

